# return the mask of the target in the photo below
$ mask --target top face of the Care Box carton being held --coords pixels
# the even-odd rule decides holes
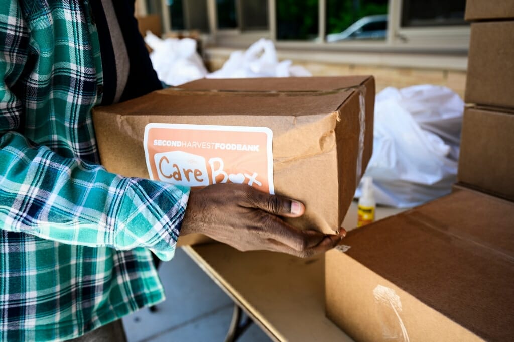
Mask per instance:
[[[108,110],[123,115],[329,114],[338,111],[369,78],[203,79],[111,105]],[[95,111],[102,112],[103,107]]]

